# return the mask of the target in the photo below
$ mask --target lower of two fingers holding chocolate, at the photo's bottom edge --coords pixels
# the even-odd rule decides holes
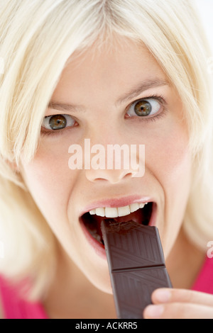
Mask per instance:
[[[213,319],[213,307],[191,303],[148,305],[144,319]]]

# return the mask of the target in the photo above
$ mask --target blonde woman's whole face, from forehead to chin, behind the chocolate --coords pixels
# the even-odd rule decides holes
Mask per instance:
[[[148,220],[158,227],[168,257],[190,189],[182,103],[146,47],[124,40],[114,50],[91,48],[71,58],[45,116],[35,157],[30,164],[23,162],[24,179],[63,249],[95,286],[110,292],[107,258],[99,242],[102,218],[87,212],[100,208],[97,214],[114,216],[119,211],[124,215],[119,222]],[[138,147],[144,145],[145,174],[136,176],[131,164],[129,169],[109,169],[107,163],[95,169],[88,159],[84,164],[85,139],[91,149],[102,145],[106,161],[107,145],[135,145],[138,159]],[[70,146],[82,149],[82,166]],[[79,169],[70,166],[70,157],[77,158]],[[91,152],[91,161],[93,157],[97,164],[103,162],[103,149]],[[141,208],[129,215],[129,208],[138,208],[133,203],[149,203],[147,213]],[[86,217],[94,237],[84,224]]]

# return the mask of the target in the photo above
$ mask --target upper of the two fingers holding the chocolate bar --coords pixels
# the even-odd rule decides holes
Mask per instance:
[[[153,291],[152,301],[160,303],[195,303],[213,307],[213,295],[196,290],[159,288]]]

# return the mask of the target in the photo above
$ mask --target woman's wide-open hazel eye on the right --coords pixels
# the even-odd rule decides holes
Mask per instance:
[[[153,115],[160,110],[161,104],[154,98],[140,99],[131,104],[127,114],[131,117],[138,115],[140,117],[146,117]]]

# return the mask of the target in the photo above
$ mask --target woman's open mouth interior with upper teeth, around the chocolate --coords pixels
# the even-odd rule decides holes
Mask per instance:
[[[141,225],[148,225],[153,213],[153,202],[133,203],[121,208],[97,208],[84,213],[80,220],[87,231],[100,244],[104,245],[102,238],[101,222],[104,219],[114,219],[116,222],[133,220]]]

